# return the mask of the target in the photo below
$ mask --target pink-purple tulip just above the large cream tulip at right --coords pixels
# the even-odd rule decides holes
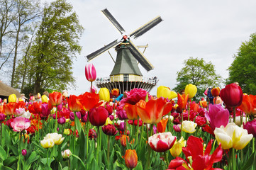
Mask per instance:
[[[221,104],[209,105],[209,111],[206,111],[206,119],[209,121],[211,129],[220,128],[221,125],[226,127],[229,121],[228,109],[224,109]]]

